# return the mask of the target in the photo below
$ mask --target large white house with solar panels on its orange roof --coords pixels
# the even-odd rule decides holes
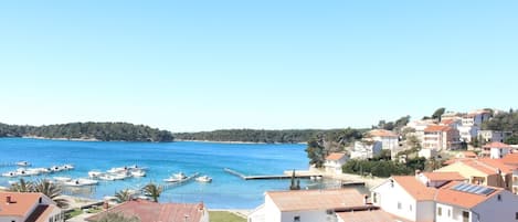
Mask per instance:
[[[516,221],[518,195],[508,190],[455,181],[461,177],[454,173],[429,173],[427,177],[452,181],[433,187],[419,177],[391,177],[371,189],[372,202],[389,215],[402,218],[399,221]]]

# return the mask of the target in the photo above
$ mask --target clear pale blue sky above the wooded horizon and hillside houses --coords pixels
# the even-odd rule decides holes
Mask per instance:
[[[496,3],[497,2],[497,3]],[[0,121],[369,127],[508,109],[518,1],[2,1]]]

